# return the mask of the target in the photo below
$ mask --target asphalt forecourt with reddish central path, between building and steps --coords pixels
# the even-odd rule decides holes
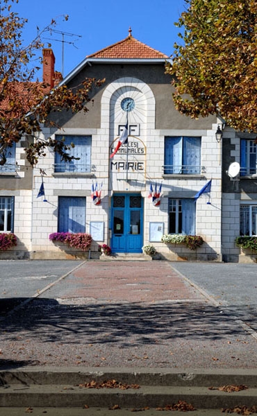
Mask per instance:
[[[1,368],[255,369],[256,265],[1,261]]]

